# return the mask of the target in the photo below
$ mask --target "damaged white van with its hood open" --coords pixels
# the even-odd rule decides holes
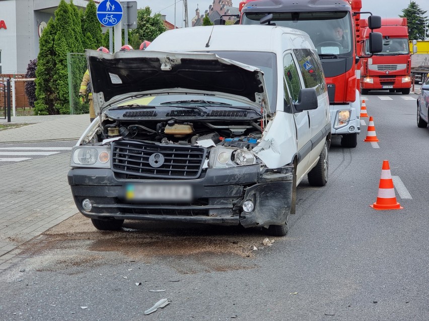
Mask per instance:
[[[97,229],[131,219],[283,236],[296,186],[326,184],[329,100],[302,31],[184,28],[144,51],[87,57],[99,115],[73,148],[68,182]]]

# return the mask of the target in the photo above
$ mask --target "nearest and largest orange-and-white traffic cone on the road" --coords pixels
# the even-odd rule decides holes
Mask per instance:
[[[401,209],[401,204],[396,201],[395,187],[390,174],[389,161],[383,161],[381,168],[380,184],[378,186],[377,200],[370,205],[375,209]]]

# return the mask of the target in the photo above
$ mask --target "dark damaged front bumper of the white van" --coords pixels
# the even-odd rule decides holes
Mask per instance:
[[[122,179],[110,169],[73,168],[68,183],[79,211],[98,220],[180,221],[257,227],[287,221],[292,203],[293,166],[268,169],[259,164],[207,169],[198,179]],[[127,184],[145,187],[190,186],[192,200],[130,200]],[[89,200],[89,201],[88,201]],[[250,200],[253,209],[243,210]],[[83,207],[83,202],[91,209]]]

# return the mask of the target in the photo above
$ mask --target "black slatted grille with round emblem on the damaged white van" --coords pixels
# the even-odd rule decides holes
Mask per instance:
[[[206,149],[133,141],[112,143],[112,170],[129,177],[197,178]]]

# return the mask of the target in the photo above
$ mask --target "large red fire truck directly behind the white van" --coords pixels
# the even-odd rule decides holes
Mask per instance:
[[[359,57],[356,53],[362,43],[362,0],[245,0],[239,9],[243,25],[261,23],[290,27],[310,36],[325,73],[332,135],[341,136],[341,146],[356,147],[361,132],[359,69],[356,71]],[[368,20],[372,29],[380,28],[380,17],[370,16]],[[369,52],[381,51],[381,42],[380,33],[370,33]]]

